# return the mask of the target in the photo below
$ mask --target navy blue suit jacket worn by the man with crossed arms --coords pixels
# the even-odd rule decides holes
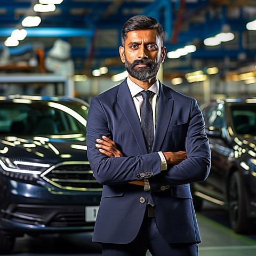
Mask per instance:
[[[116,142],[123,157],[107,157],[95,147],[102,135]],[[157,151],[186,151],[188,159],[161,171]],[[203,181],[210,170],[210,147],[204,119],[195,99],[160,83],[152,153],[147,154],[141,123],[126,80],[92,98],[87,119],[87,154],[102,199],[94,242],[129,243],[138,234],[147,198],[142,186],[130,184],[141,171],[152,170],[150,193],[156,224],[170,243],[201,242],[189,183]],[[169,189],[163,189],[163,186]]]

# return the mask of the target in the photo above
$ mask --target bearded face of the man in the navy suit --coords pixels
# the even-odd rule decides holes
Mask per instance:
[[[129,75],[139,81],[150,81],[156,77],[166,53],[166,48],[161,46],[156,29],[130,31],[125,46],[119,48]]]

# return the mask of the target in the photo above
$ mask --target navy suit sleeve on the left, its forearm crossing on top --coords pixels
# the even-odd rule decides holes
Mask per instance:
[[[95,178],[103,185],[118,185],[138,180],[142,170],[161,172],[161,159],[157,152],[129,157],[108,157],[95,147],[96,139],[102,135],[113,139],[109,130],[108,118],[98,98],[91,100],[87,117],[87,156]]]

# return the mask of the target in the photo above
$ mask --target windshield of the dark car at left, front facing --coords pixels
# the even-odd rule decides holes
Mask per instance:
[[[16,101],[16,102],[15,102]],[[88,107],[70,101],[12,100],[0,105],[0,135],[85,137]],[[70,136],[70,134],[74,134]],[[68,136],[69,135],[69,136]]]

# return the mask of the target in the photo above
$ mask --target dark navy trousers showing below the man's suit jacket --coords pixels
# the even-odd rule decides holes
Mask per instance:
[[[147,217],[147,215],[143,219],[137,237],[131,243],[101,243],[101,246],[102,256],[145,256],[147,250],[153,256],[198,256],[196,243],[166,242],[156,227],[155,218]]]

